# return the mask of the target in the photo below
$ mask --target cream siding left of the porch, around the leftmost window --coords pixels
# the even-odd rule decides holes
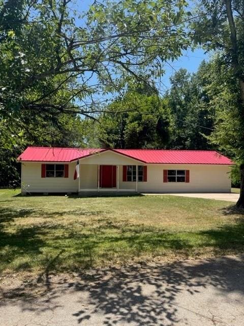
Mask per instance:
[[[22,162],[21,190],[23,193],[26,191],[30,193],[77,192],[78,179],[74,180],[75,165],[76,162],[69,164],[68,178],[42,178],[40,162]]]

